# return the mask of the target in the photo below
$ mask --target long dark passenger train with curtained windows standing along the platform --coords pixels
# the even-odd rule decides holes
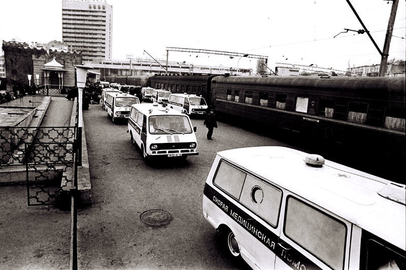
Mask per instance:
[[[140,76],[122,77],[130,84]],[[329,159],[340,156],[345,165],[365,163],[370,173],[403,178],[404,78],[154,75],[147,85],[201,95],[222,120],[294,134]]]

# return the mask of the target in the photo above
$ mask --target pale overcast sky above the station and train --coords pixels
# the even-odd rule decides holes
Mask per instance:
[[[351,0],[383,50],[392,1]],[[285,1],[129,1],[113,5],[113,58],[166,59],[166,47],[217,50],[268,56],[275,63],[314,64],[345,70],[348,65],[379,64],[381,56],[346,0]],[[0,1],[0,40],[48,43],[62,41],[60,0]],[[389,59],[405,58],[405,1],[400,0]],[[196,57],[197,56],[197,57]],[[170,61],[195,65],[253,68],[256,59],[170,52]]]

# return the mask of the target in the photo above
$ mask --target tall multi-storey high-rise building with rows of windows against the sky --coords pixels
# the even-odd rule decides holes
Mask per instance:
[[[106,0],[62,1],[62,41],[82,52],[83,62],[112,58],[113,6]]]

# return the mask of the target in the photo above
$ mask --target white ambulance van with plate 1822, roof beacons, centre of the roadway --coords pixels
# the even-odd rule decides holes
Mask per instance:
[[[156,102],[131,106],[127,132],[144,160],[198,155],[196,127],[192,127],[189,117]]]

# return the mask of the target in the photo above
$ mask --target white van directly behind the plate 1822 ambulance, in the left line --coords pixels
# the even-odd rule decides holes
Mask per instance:
[[[106,98],[107,115],[113,122],[117,119],[128,118],[130,115],[131,105],[140,103],[138,97],[127,93],[107,93]]]

